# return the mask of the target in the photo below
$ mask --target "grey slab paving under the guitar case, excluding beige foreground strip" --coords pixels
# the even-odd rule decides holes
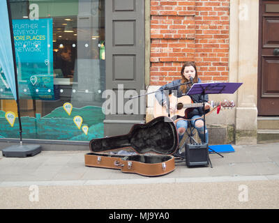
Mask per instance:
[[[216,176],[262,176],[279,174],[279,144],[234,146],[234,153],[224,157],[209,155],[213,168],[187,167],[176,163],[176,169],[158,178],[204,178]],[[125,174],[118,169],[84,166],[87,151],[42,151],[33,157],[0,160],[0,183],[42,180],[107,180],[144,179],[138,174]]]

